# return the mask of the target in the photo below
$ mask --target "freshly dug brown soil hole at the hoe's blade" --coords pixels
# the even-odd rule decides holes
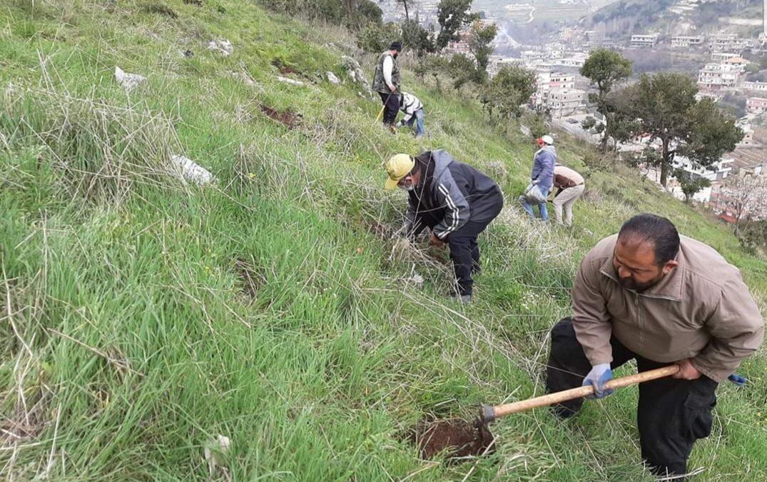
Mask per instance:
[[[424,459],[439,454],[459,459],[492,453],[495,451],[492,434],[486,426],[479,424],[477,428],[475,424],[461,418],[422,422],[410,440],[421,449],[421,457]]]

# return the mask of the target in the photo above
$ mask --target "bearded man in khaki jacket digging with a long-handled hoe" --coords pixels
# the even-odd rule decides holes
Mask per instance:
[[[572,304],[572,319],[551,330],[547,390],[593,385],[603,398],[612,369],[631,358],[639,371],[680,365],[673,378],[640,385],[637,425],[653,474],[685,474],[693,444],[710,434],[717,385],[764,338],[739,270],[669,220],[640,214],[586,255]],[[555,413],[569,417],[581,404]]]

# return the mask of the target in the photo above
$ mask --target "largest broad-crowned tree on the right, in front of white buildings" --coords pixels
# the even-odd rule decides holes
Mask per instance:
[[[698,88],[684,74],[642,74],[635,89],[631,115],[641,120],[644,132],[661,142],[663,186],[667,184],[676,144],[682,145],[681,150],[692,160],[707,167],[742,139],[742,131],[732,117],[709,100],[695,100]]]

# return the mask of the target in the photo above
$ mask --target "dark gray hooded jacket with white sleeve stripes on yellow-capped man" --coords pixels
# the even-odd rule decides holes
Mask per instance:
[[[426,165],[421,181],[410,191],[405,216],[407,233],[415,235],[433,226],[446,239],[467,221],[488,221],[503,205],[501,189],[494,180],[468,164],[454,160],[444,150],[426,151],[416,157]]]

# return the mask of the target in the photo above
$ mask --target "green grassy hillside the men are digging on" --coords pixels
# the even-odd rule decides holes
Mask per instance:
[[[219,37],[231,56],[206,50]],[[498,421],[498,451],[468,464],[420,461],[407,432],[541,394],[578,260],[632,213],[670,216],[760,298],[764,260],[634,173],[584,166],[590,148],[565,137],[561,159],[590,193],[571,231],[533,226],[513,202],[532,158],[518,126],[406,73],[430,137],[391,136],[376,101],[319,81],[344,74],[327,41],[352,43],[235,0],[0,8],[2,478],[203,480],[222,434],[219,480],[221,467],[235,480],[650,480],[636,389],[565,424],[544,410]],[[116,64],[148,82],[126,94]],[[275,64],[309,84],[276,81]],[[494,173],[510,205],[481,239],[468,307],[443,298],[445,253],[403,253],[387,236],[405,200],[381,189],[381,162],[438,147]],[[170,154],[216,184],[176,180]],[[740,370],[748,389],[719,390],[713,436],[690,461],[702,480],[767,480],[765,370],[761,352]]]

